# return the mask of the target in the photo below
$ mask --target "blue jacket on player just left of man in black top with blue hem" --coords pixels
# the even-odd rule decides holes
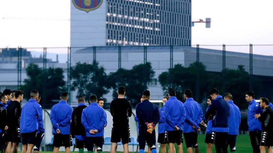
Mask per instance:
[[[51,108],[50,121],[53,125],[52,134],[57,134],[56,130],[60,129],[60,134],[70,134],[70,124],[73,108],[65,100],[60,100]]]

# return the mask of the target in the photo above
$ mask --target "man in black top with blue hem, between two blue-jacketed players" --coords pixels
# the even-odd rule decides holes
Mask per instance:
[[[82,124],[83,109],[86,108],[84,96],[78,97],[78,107],[73,110],[71,118],[71,135],[76,138],[75,148],[79,148],[79,153],[83,153],[83,148],[87,148],[85,128]]]

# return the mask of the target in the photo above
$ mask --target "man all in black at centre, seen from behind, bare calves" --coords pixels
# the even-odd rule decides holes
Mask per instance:
[[[116,152],[117,143],[123,144],[123,152],[129,153],[128,143],[131,142],[129,117],[132,116],[132,107],[130,101],[124,98],[125,87],[118,89],[118,98],[110,104],[110,113],[113,116],[113,127],[111,133],[111,153]]]

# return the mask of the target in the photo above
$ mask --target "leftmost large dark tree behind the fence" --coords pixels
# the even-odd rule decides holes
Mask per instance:
[[[43,72],[38,65],[30,63],[26,68],[28,78],[24,80],[24,85],[21,87],[21,90],[24,91],[24,97],[29,99],[30,91],[38,90],[39,94],[42,95],[41,104],[44,104],[43,108],[51,108],[54,104],[52,100],[59,100],[60,93],[66,90],[63,72],[61,68],[48,68]]]

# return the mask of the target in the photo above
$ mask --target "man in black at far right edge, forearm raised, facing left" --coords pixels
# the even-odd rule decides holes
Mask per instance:
[[[260,144],[261,153],[272,153],[273,146],[273,110],[268,107],[269,100],[267,98],[260,98],[260,106],[263,109],[262,114],[255,114],[257,118],[262,123],[262,138]]]

